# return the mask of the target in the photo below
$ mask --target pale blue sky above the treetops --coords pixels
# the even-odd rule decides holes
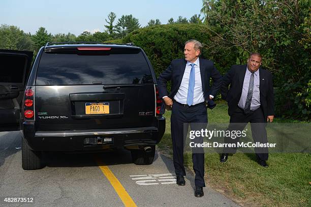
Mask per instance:
[[[202,0],[0,0],[0,24],[19,27],[24,32],[35,34],[39,27],[48,33],[73,33],[78,36],[83,31],[103,32],[105,19],[114,12],[116,19],[132,14],[141,26],[150,19],[160,19],[166,24],[172,17],[190,19],[200,14]],[[203,16],[203,15],[201,15]]]

